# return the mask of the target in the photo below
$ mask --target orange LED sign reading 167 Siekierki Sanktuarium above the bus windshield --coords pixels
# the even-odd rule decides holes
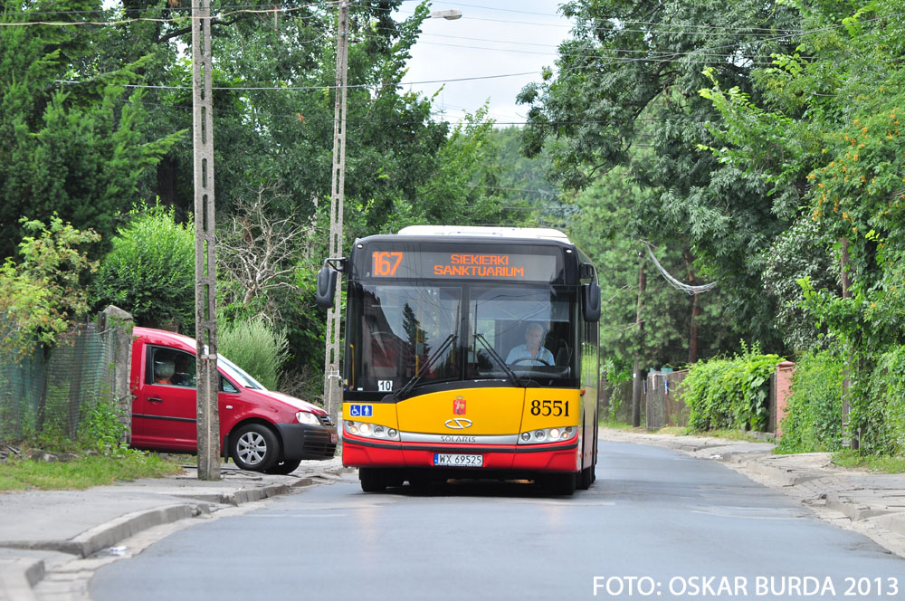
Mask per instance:
[[[557,274],[553,254],[371,253],[371,275],[381,278],[555,281]]]

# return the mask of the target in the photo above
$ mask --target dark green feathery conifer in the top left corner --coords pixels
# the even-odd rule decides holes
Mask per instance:
[[[0,256],[14,253],[22,215],[59,214],[106,239],[139,180],[182,132],[145,133],[141,93],[126,85],[140,81],[147,58],[99,72],[92,66],[103,37],[97,28],[33,24],[45,11],[83,20],[100,3],[3,7],[3,23],[28,25],[0,27]],[[63,82],[73,78],[84,83]]]

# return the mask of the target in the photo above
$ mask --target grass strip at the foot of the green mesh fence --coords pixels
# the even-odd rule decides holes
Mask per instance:
[[[65,463],[9,460],[0,463],[0,491],[85,489],[179,472],[182,472],[182,467],[176,463],[165,461],[154,453],[135,451],[120,457],[93,455]]]

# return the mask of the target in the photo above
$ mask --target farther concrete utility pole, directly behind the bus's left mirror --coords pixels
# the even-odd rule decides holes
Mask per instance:
[[[348,2],[339,3],[337,24],[337,86],[336,110],[333,117],[333,175],[330,186],[330,249],[329,256],[342,254],[343,193],[346,186],[346,76],[348,73]],[[337,424],[341,421],[341,390],[339,386],[339,318],[342,281],[337,281],[333,307],[327,311],[327,353],[324,361],[324,405]]]

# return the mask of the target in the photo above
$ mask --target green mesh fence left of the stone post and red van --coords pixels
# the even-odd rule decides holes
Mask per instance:
[[[0,441],[78,438],[85,416],[113,390],[116,338],[102,334],[86,323],[26,358],[0,350]]]

